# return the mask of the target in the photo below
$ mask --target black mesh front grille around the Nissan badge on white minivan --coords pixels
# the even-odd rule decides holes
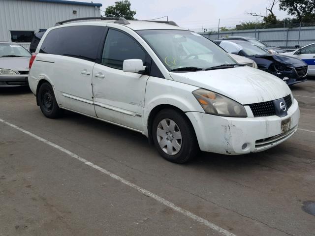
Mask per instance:
[[[287,109],[292,105],[291,95],[284,97]],[[276,115],[276,109],[273,101],[249,104],[254,117],[268,117]]]

